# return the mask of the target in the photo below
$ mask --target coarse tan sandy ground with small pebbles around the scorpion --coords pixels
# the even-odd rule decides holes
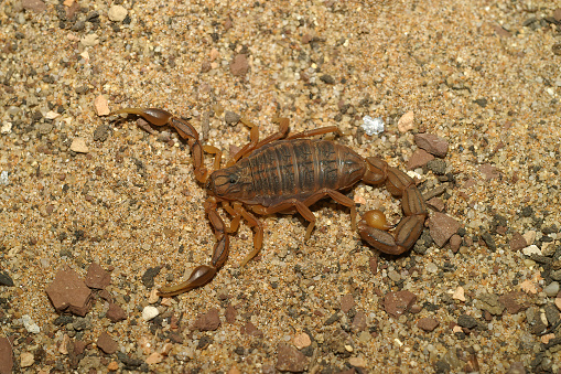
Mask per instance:
[[[25,373],[558,373],[560,7],[2,1],[1,370],[12,357]],[[414,172],[423,194],[440,191],[430,216],[460,224],[455,244],[427,227],[413,250],[381,255],[326,200],[306,243],[300,216],[263,217],[263,250],[239,267],[253,236],[241,224],[209,285],[157,298],[209,260],[206,191],[175,131],[103,115],[96,98],[97,110],[107,99],[190,118],[225,160],[249,139],[227,111],[265,135],[278,116],[292,131],[337,125],[336,141],[400,169],[416,133],[436,135],[449,142],[440,171]],[[366,115],[386,131],[364,135]],[[399,220],[384,189],[348,195]],[[91,263],[110,286],[85,318],[61,320],[46,287]],[[417,299],[392,317],[397,291]],[[111,304],[126,320],[107,318]]]

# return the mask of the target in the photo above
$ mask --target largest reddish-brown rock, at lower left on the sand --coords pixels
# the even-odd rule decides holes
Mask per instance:
[[[64,267],[56,273],[55,279],[46,288],[48,299],[57,312],[71,312],[86,316],[91,306],[91,290],[76,271]]]

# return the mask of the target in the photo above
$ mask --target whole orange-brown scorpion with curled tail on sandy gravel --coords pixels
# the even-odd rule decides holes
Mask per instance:
[[[123,108],[115,114],[137,115],[153,126],[170,126],[186,140],[192,151],[194,174],[205,185],[208,197],[205,213],[213,228],[216,244],[211,263],[197,266],[184,282],[160,288],[158,295],[172,297],[208,284],[226,263],[229,236],[238,229],[240,220],[253,228],[253,249],[245,257],[245,266],[262,247],[263,224],[257,215],[295,213],[309,222],[304,241],[315,226],[311,205],[331,197],[350,209],[352,228],[356,229],[354,201],[341,193],[357,182],[386,184],[395,196],[401,196],[403,217],[397,225],[389,225],[380,211],[365,213],[358,223],[360,237],[374,248],[391,255],[409,250],[422,233],[428,211],[414,181],[404,172],[391,168],[377,157],[363,158],[341,143],[309,139],[328,132],[341,133],[336,126],[289,133],[289,119],[276,118],[279,130],[259,140],[259,128],[249,121],[250,141],[237,151],[220,169],[222,151],[203,146],[195,128],[186,120],[158,108]],[[203,162],[203,152],[214,154],[214,171]],[[222,206],[230,216],[226,227],[218,214]],[[389,232],[391,228],[392,232]]]

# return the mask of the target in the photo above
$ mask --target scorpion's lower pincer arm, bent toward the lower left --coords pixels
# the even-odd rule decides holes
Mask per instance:
[[[229,236],[226,232],[224,221],[216,211],[216,206],[214,197],[209,197],[205,202],[208,221],[211,221],[211,225],[214,228],[214,235],[216,236],[216,244],[214,246],[211,265],[197,266],[193,273],[191,273],[188,279],[180,285],[162,287],[158,292],[159,296],[172,297],[208,284],[228,259],[230,248]]]

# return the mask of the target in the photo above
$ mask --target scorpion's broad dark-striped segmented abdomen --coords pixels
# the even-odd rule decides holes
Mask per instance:
[[[327,140],[281,140],[242,159],[249,168],[255,203],[305,200],[321,189],[342,190],[363,178],[365,163],[348,147]]]

